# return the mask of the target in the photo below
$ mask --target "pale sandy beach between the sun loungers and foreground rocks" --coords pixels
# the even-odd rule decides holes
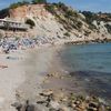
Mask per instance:
[[[16,101],[34,101],[41,92],[44,77],[52,68],[54,48],[18,50],[9,54],[1,53],[0,61],[8,68],[0,69],[0,110],[16,111],[11,107]],[[56,68],[58,69],[58,68]]]

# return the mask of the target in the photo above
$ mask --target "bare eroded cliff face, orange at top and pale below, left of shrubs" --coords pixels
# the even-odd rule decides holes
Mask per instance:
[[[32,33],[32,37],[38,37],[39,40],[47,42],[64,38],[63,34],[67,30],[44,7],[44,4],[30,4],[11,9],[9,10],[10,18],[22,22],[28,19],[32,20],[36,27],[29,29],[29,32]]]

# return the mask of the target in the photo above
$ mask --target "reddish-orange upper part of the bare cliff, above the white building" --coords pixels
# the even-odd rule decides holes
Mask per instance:
[[[47,17],[48,11],[44,9],[44,4],[28,4],[18,7],[16,9],[10,9],[9,16],[12,19],[24,21],[29,17]]]

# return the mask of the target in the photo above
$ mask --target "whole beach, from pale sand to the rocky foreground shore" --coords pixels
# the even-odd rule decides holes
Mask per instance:
[[[65,46],[42,46],[0,53],[0,111],[26,111],[28,107],[36,109],[29,111],[108,109],[108,102],[97,93],[88,93],[91,90],[85,84],[99,83],[98,78],[90,78],[89,72],[78,72],[73,65],[74,71],[69,70],[70,61],[61,60],[62,53],[65,56],[63,50]],[[90,81],[92,78],[95,81]]]

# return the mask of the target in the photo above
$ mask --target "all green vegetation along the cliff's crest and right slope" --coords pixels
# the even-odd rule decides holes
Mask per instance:
[[[12,3],[9,8],[0,11],[0,18],[8,17],[10,9],[38,3],[46,4],[43,6],[46,10],[52,13],[52,16],[56,17],[57,21],[61,23],[63,28],[68,31],[64,33],[64,36],[67,37],[70,37],[70,33],[73,32],[73,29],[78,32],[84,33],[84,36],[87,37],[92,31],[100,32],[102,28],[101,21],[103,22],[103,27],[108,30],[108,32],[111,33],[111,23],[109,23],[111,22],[111,13],[77,11],[62,2],[48,3],[47,0],[23,0],[17,3]],[[95,22],[93,23],[93,21]],[[34,27],[34,23],[31,20],[28,20],[26,23],[30,24],[30,28]]]

